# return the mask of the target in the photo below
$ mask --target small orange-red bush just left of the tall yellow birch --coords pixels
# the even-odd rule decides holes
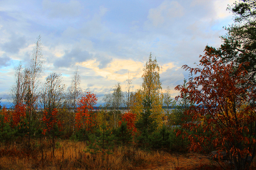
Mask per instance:
[[[135,127],[135,120],[136,115],[132,112],[126,112],[124,115],[121,116],[121,121],[119,121],[119,125],[121,125],[122,122],[127,122],[127,128],[129,131],[132,131],[132,135],[135,134],[137,131],[137,128]]]

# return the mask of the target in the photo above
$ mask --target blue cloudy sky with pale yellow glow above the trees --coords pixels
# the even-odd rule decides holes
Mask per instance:
[[[29,66],[41,36],[45,60],[41,81],[51,72],[71,85],[78,68],[80,88],[102,98],[119,82],[135,92],[150,53],[162,67],[162,91],[171,96],[195,67],[206,45],[219,47],[233,23],[234,0],[0,0],[0,98],[11,102],[15,69]],[[129,74],[129,76],[128,76]]]

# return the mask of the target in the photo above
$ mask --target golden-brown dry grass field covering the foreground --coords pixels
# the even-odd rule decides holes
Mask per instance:
[[[53,161],[50,143],[33,141],[31,150],[21,144],[1,144],[0,169],[219,169],[206,155],[167,153],[116,147],[113,154],[91,155],[84,142],[59,141]],[[254,165],[255,167],[255,165]]]

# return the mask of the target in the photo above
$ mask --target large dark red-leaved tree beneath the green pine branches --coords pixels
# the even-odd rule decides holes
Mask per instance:
[[[201,56],[202,69],[183,66],[191,74],[199,75],[187,82],[187,88],[176,87],[181,90],[177,99],[187,94],[191,103],[195,103],[185,113],[192,117],[192,122],[184,128],[202,130],[201,134],[187,134],[192,144],[190,150],[202,150],[211,144],[219,151],[230,153],[233,159],[245,158],[255,154],[252,151],[256,149],[256,109],[251,103],[256,98],[255,85],[247,78],[249,75],[243,67],[246,63],[240,66],[223,63],[212,50],[206,48]]]

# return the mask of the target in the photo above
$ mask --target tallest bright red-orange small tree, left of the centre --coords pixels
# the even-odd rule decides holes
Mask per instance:
[[[78,112],[75,114],[76,126],[78,129],[85,128],[86,131],[92,131],[92,127],[96,125],[96,115],[92,110],[97,104],[98,98],[94,93],[86,92],[86,96],[80,98],[78,103]]]

